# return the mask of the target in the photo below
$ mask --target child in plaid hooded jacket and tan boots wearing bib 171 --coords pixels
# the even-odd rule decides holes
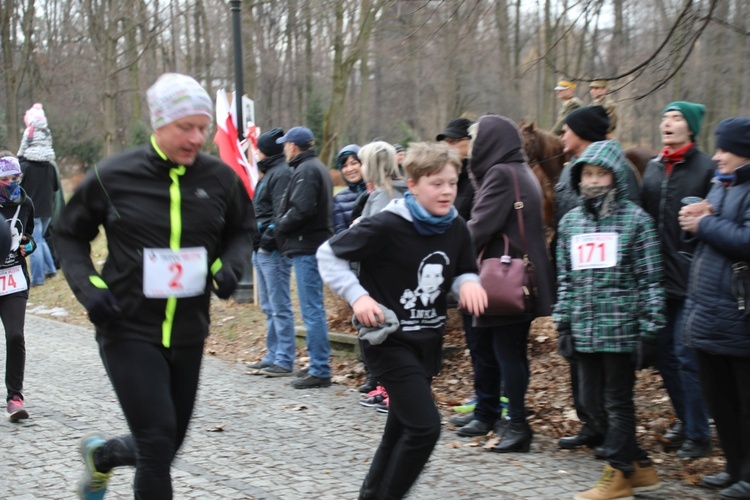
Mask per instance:
[[[587,412],[599,420],[602,398],[606,410],[597,427],[606,431],[607,480],[576,496],[582,499],[627,497],[659,484],[636,443],[633,386],[642,354],[665,322],[661,252],[651,217],[627,199],[627,168],[619,143],[592,143],[571,169],[581,203],[559,227],[554,319],[569,341],[562,353],[578,360]],[[560,346],[565,351],[565,342]]]

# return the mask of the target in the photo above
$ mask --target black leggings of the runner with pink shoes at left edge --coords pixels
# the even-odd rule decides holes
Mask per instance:
[[[6,400],[13,396],[23,399],[23,373],[26,366],[26,297],[13,293],[0,297],[0,319],[5,327],[5,389]]]

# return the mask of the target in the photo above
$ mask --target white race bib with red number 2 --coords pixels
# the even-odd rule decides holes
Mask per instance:
[[[150,299],[202,295],[207,274],[208,254],[203,247],[143,249],[143,294]]]

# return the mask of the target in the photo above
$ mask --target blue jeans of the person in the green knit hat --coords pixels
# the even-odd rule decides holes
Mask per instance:
[[[682,338],[684,306],[683,300],[667,300],[667,324],[659,334],[659,371],[677,418],[685,424],[685,437],[702,441],[710,436],[708,412],[695,349],[686,346]]]

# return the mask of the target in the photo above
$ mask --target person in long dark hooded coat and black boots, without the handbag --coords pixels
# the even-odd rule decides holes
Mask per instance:
[[[554,274],[547,253],[542,222],[542,191],[539,181],[526,163],[523,139],[518,127],[508,118],[488,115],[472,127],[474,137],[469,169],[477,191],[469,221],[472,242],[481,252],[496,256],[504,233],[520,257],[525,238],[526,251],[534,268],[536,293],[533,310],[516,316],[484,314],[474,320],[476,337],[474,356],[478,359],[475,387],[479,401],[475,419],[459,429],[459,435],[484,435],[500,419],[500,377],[510,402],[510,424],[502,430],[502,440],[492,451],[525,452],[531,444],[524,399],[529,383],[527,340],[531,321],[551,312],[554,300]],[[523,226],[519,223],[515,180],[523,203]],[[515,209],[514,209],[515,208]],[[523,235],[523,236],[522,236]],[[500,240],[501,241],[501,240]],[[499,254],[497,254],[499,256]]]

